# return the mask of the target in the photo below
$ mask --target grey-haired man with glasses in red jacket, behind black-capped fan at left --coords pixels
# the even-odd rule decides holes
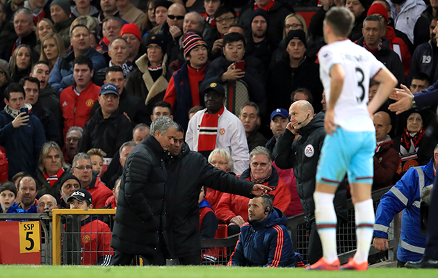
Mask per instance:
[[[97,178],[97,172],[92,170],[91,158],[88,154],[80,152],[74,156],[72,174],[81,182],[81,188],[86,189],[92,195],[93,208],[104,207],[106,199],[113,195],[113,191],[107,188]]]

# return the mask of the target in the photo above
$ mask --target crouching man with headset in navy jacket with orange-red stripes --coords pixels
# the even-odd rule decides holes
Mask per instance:
[[[228,266],[304,266],[301,255],[293,252],[293,243],[286,229],[286,217],[282,211],[273,207],[273,201],[268,196],[250,200],[249,221],[241,227]]]

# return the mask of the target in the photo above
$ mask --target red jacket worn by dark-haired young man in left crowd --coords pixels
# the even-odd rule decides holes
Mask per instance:
[[[67,87],[61,92],[59,103],[64,117],[64,138],[67,131],[72,126],[83,125],[90,120],[90,113],[95,101],[99,99],[100,87],[90,82],[85,90],[79,96],[74,92],[73,87]]]

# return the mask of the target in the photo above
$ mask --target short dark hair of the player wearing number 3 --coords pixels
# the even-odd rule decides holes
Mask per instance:
[[[334,35],[348,38],[355,24],[355,16],[344,7],[333,7],[325,14],[324,22],[332,27]]]

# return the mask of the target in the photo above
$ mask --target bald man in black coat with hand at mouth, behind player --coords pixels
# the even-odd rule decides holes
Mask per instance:
[[[316,263],[323,256],[321,240],[316,231],[314,191],[316,186],[316,166],[325,138],[324,113],[314,115],[314,108],[308,101],[295,101],[289,108],[291,122],[286,131],[277,139],[274,148],[275,164],[280,169],[293,168],[297,179],[305,220],[309,223],[309,263]],[[294,141],[295,133],[300,137]],[[345,184],[339,185],[334,197],[334,207],[338,223],[347,220]]]

